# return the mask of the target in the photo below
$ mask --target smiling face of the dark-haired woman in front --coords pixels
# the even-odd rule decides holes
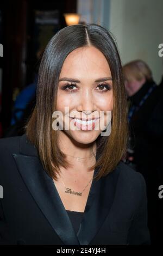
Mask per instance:
[[[68,54],[58,85],[59,132],[78,143],[94,142],[110,122],[113,103],[111,71],[102,52],[89,46]]]

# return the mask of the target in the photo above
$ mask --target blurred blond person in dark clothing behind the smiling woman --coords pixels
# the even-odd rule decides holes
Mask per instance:
[[[142,60],[123,66],[128,95],[130,138],[127,155],[123,159],[147,183],[148,225],[151,240],[159,240],[158,187],[162,179],[163,105],[162,90],[156,86],[152,71]],[[159,200],[159,199],[158,199]]]

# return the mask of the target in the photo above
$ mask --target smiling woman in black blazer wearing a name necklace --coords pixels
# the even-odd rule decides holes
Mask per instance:
[[[150,243],[145,180],[120,161],[126,115],[110,33],[94,24],[61,29],[43,53],[26,133],[0,140],[4,241]]]

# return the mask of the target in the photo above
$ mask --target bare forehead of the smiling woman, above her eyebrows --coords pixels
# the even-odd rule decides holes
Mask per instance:
[[[109,64],[104,54],[94,46],[80,47],[66,57],[61,76],[111,76]]]

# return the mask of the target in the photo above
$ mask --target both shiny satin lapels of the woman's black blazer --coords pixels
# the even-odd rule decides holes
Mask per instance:
[[[28,190],[61,241],[65,245],[89,245],[109,214],[118,170],[92,181],[83,220],[76,234],[53,179],[43,169],[37,150],[26,135],[20,137],[20,154],[12,155]],[[97,172],[95,169],[94,176]]]

